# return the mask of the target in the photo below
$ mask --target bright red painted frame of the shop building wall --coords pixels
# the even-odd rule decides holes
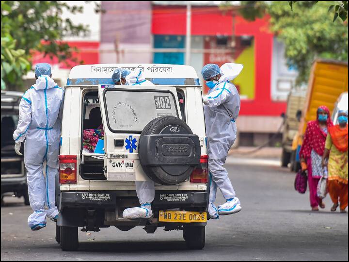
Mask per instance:
[[[236,35],[252,35],[255,43],[255,96],[253,100],[241,100],[241,115],[279,116],[286,111],[286,102],[271,100],[271,61],[273,34],[268,30],[268,17],[246,21],[236,16]],[[231,35],[233,18],[222,14],[218,7],[192,7],[192,35]],[[152,33],[164,35],[186,34],[186,7],[154,6]]]

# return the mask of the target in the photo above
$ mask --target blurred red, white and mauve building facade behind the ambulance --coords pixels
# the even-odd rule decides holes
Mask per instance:
[[[99,14],[93,12],[91,5],[85,5],[85,13],[74,21],[88,24],[91,35],[65,40],[79,48],[74,56],[84,64],[184,65],[185,3],[101,1],[105,12]],[[236,144],[259,146],[265,143],[282,125],[280,115],[286,112],[286,98],[297,76],[295,70],[286,66],[283,44],[269,31],[268,16],[249,22],[232,9],[222,9],[217,1],[191,1],[191,5],[190,66],[197,71],[203,92],[207,91],[201,77],[204,65],[243,64],[244,69],[234,80],[241,97]],[[62,82],[75,65],[71,61],[58,63],[36,54],[33,64],[39,62],[53,64],[53,72],[60,75]],[[281,141],[281,133],[276,141]]]

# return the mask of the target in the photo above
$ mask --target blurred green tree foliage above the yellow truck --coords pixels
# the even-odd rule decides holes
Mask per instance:
[[[297,1],[292,11],[285,1],[259,2],[258,8],[257,3],[241,1],[240,13],[250,20],[270,16],[270,30],[285,44],[287,64],[297,68],[296,84],[301,84],[307,82],[316,58],[348,61],[348,22],[333,21],[329,12],[329,6],[338,2]]]

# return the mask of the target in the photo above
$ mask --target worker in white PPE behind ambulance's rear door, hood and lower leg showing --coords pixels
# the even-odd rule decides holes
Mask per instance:
[[[121,83],[123,83],[123,81],[121,81]],[[139,69],[134,70],[132,72],[128,71],[128,74],[126,75],[126,85],[155,86],[155,84],[146,80],[143,77],[142,71]],[[123,218],[131,219],[131,218],[152,217],[153,212],[151,210],[151,202],[154,201],[154,197],[155,197],[154,182],[153,181],[136,181],[135,184],[136,184],[137,197],[141,206],[125,209],[123,212]]]

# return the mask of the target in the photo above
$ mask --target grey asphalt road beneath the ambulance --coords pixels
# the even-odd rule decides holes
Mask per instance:
[[[229,157],[226,167],[242,211],[210,220],[203,250],[188,250],[182,231],[160,228],[146,234],[142,227],[127,232],[111,227],[79,231],[79,250],[63,252],[54,240],[54,223],[48,220],[45,229],[31,231],[30,207],[8,197],[1,207],[1,261],[348,261],[348,214],[331,213],[329,197],[326,208],[314,213],[308,192],[297,193],[294,174],[275,161]],[[222,202],[218,193],[216,204]]]

